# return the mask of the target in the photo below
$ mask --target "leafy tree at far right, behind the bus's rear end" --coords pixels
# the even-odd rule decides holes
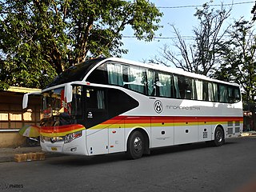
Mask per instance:
[[[216,78],[237,82],[245,92],[244,101],[256,99],[256,37],[253,23],[240,19],[229,31],[223,63]]]

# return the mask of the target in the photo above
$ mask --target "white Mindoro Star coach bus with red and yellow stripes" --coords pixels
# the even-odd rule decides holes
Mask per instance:
[[[51,153],[126,152],[136,159],[164,146],[222,146],[242,134],[238,84],[157,64],[94,58],[65,70],[37,94],[40,144]]]

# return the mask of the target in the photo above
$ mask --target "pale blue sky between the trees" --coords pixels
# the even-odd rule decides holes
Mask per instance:
[[[196,7],[202,8],[202,4],[209,2],[206,0],[150,0],[157,7],[168,7],[168,8],[159,8],[159,10],[164,14],[161,18],[160,25],[163,26],[161,30],[156,31],[155,36],[159,37],[162,34],[162,39],[154,39],[152,42],[139,41],[137,38],[122,38],[124,43],[123,48],[129,50],[128,54],[123,54],[122,58],[130,59],[137,62],[143,62],[150,58],[154,58],[154,55],[158,55],[161,47],[164,44],[169,45],[172,48],[173,40],[175,37],[174,31],[172,30],[170,24],[174,24],[176,29],[182,36],[193,36],[193,28],[198,26],[198,19],[194,17],[196,12]],[[218,10],[220,4],[232,4],[232,10],[230,13],[230,18],[226,21],[229,23],[234,22],[234,19],[238,20],[241,17],[244,17],[247,21],[251,20],[252,14],[250,11],[255,4],[255,1],[252,0],[214,0],[210,3],[210,8]],[[182,7],[187,6],[187,7]],[[172,7],[172,8],[170,8]],[[175,8],[173,8],[175,7]],[[226,10],[230,6],[225,6]],[[123,36],[133,36],[134,32],[129,27],[123,31]],[[187,40],[189,41],[189,40]],[[174,46],[173,46],[174,48]]]

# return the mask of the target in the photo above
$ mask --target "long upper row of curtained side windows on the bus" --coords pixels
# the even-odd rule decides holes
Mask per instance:
[[[197,99],[209,102],[241,100],[238,87],[118,62],[102,64],[90,74],[87,81],[122,86],[155,97]]]

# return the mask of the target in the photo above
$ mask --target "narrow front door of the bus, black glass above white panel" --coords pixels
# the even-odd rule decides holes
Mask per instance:
[[[106,90],[88,86],[85,95],[86,148],[89,155],[108,153]]]

